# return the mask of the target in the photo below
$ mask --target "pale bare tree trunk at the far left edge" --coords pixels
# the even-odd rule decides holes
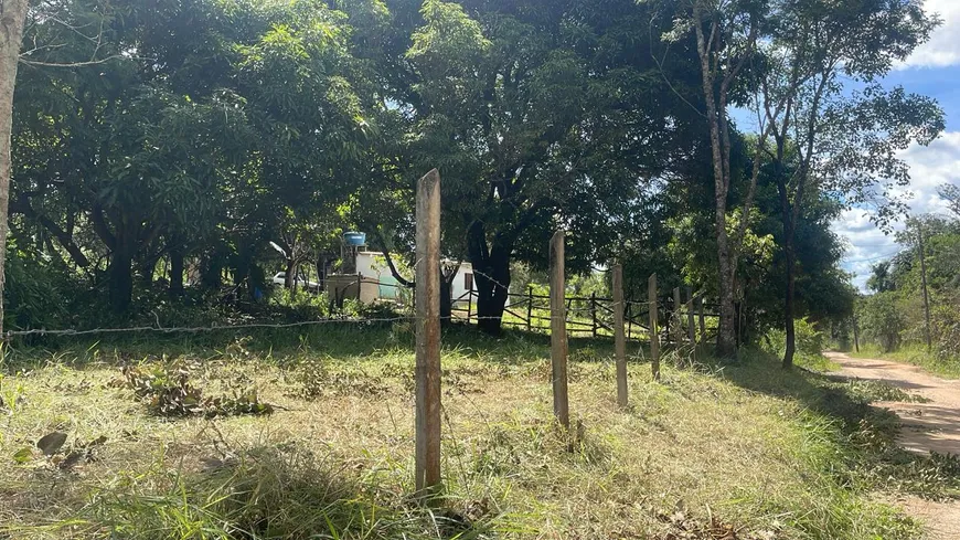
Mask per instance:
[[[26,0],[0,0],[0,332],[3,331],[3,286],[7,282],[7,232],[12,173],[10,136],[13,131],[13,86],[20,42],[26,20]]]

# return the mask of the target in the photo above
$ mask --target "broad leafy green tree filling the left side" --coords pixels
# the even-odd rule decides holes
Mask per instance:
[[[58,20],[79,25],[79,3]],[[21,73],[14,166],[15,210],[78,266],[107,260],[122,313],[164,257],[174,294],[193,254],[211,285],[225,267],[243,284],[267,242],[335,214],[376,130],[350,27],[322,2],[116,8],[102,42],[77,36]],[[30,42],[49,41],[43,22]],[[109,61],[45,68],[90,47]]]

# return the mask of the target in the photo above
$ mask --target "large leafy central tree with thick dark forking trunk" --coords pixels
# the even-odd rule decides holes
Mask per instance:
[[[440,168],[445,239],[472,263],[481,327],[497,332],[511,261],[545,265],[559,226],[572,271],[602,258],[638,190],[689,147],[686,117],[632,49],[649,12],[631,0],[427,0],[420,21],[396,62],[409,67],[395,94],[406,152]]]

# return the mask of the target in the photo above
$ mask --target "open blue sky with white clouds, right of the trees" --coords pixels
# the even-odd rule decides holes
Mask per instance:
[[[960,0],[926,0],[925,8],[938,13],[943,24],[884,81],[885,86],[902,85],[907,92],[936,98],[947,114],[947,129],[938,140],[900,155],[910,167],[909,204],[916,214],[943,213],[946,204],[937,197],[937,187],[960,184]],[[849,243],[843,268],[856,274],[854,284],[860,288],[864,288],[871,266],[899,248],[863,210],[844,212],[833,230]]]

